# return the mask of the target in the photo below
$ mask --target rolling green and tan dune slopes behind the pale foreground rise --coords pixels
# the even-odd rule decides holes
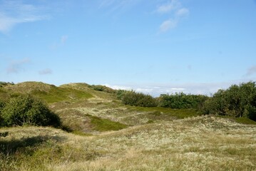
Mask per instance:
[[[40,98],[57,113],[69,130],[75,133],[97,134],[158,120],[173,120],[195,116],[195,110],[170,108],[141,108],[123,105],[116,91],[106,86],[68,83],[53,86],[41,82],[24,82],[2,86],[1,97],[23,93]]]

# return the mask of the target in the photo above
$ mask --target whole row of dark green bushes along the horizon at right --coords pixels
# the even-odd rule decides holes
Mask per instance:
[[[227,90],[218,90],[211,97],[185,93],[162,94],[158,98],[137,93],[134,90],[117,90],[117,98],[125,105],[141,107],[195,108],[203,114],[246,117],[256,121],[255,82],[232,85]]]

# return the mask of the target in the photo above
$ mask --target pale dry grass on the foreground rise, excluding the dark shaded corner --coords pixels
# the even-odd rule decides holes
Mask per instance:
[[[9,131],[9,140],[12,136],[47,135],[56,144],[20,159],[22,167],[17,170],[256,170],[255,125],[226,118],[186,118],[91,137],[53,128],[18,130],[1,129]],[[58,148],[59,154],[49,150],[52,147]],[[53,158],[41,160],[40,167],[27,163],[41,159],[39,154],[46,157],[49,151]]]

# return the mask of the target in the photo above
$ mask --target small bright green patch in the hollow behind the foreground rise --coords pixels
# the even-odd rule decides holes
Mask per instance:
[[[98,118],[96,116],[87,115],[91,118],[91,124],[93,125],[94,130],[98,131],[109,131],[109,130],[121,130],[123,128],[127,128],[126,125],[118,122],[114,122],[112,120]]]

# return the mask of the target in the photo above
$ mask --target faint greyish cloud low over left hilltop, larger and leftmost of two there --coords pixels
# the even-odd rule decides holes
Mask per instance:
[[[20,71],[25,71],[23,68],[24,64],[29,63],[30,59],[29,58],[23,58],[21,60],[15,60],[11,61],[9,63],[8,68],[6,69],[7,73],[19,73]]]

